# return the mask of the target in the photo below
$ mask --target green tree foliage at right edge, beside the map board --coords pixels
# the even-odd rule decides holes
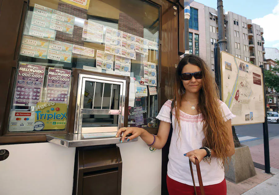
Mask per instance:
[[[264,70],[265,85],[279,92],[279,60],[276,59],[274,61],[277,66]]]

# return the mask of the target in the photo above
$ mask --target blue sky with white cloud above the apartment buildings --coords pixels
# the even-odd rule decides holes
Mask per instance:
[[[217,10],[217,0],[195,0]],[[224,10],[251,19],[263,28],[264,47],[279,49],[279,0],[223,0]]]

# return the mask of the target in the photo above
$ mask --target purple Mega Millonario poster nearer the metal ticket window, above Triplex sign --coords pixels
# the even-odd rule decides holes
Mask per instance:
[[[49,68],[47,75],[46,102],[67,104],[71,70]]]

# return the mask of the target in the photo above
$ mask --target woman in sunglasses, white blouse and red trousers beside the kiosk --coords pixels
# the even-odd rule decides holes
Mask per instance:
[[[140,136],[150,146],[160,149],[166,144],[173,122],[167,170],[170,195],[194,194],[188,158],[194,164],[195,158],[200,162],[206,195],[227,194],[223,165],[234,154],[231,119],[235,116],[218,94],[206,63],[196,55],[186,55],[176,69],[172,119],[172,100],[168,100],[157,116],[161,121],[157,136],[138,127],[124,127],[117,132],[117,137],[124,132],[122,141],[131,133],[127,141]],[[199,186],[195,166],[193,171]]]

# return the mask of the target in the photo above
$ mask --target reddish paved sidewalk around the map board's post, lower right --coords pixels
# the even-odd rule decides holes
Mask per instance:
[[[245,143],[244,143],[245,144]],[[263,144],[250,147],[254,162],[264,164]],[[278,195],[279,194],[279,139],[269,140],[271,174],[255,168],[254,177],[238,184],[227,181],[227,195]]]

